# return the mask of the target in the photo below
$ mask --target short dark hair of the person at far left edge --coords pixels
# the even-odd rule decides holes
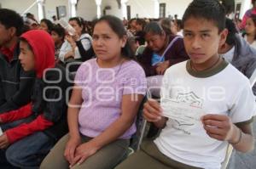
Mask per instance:
[[[8,8],[0,8],[0,24],[6,29],[10,27],[16,28],[16,36],[19,37],[23,31],[23,20],[20,14]]]

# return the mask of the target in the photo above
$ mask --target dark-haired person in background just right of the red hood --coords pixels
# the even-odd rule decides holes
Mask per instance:
[[[65,30],[61,25],[54,25],[50,34],[55,42],[55,61],[58,62],[61,46],[65,40]]]

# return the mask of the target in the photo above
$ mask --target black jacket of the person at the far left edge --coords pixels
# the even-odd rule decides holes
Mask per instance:
[[[0,113],[17,110],[31,101],[35,73],[25,72],[20,65],[19,45],[9,62],[0,52]]]

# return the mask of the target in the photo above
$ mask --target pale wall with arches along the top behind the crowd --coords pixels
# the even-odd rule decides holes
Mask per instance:
[[[35,0],[0,0],[2,8],[11,8],[18,13],[23,13],[26,8],[28,8]],[[185,8],[188,7],[192,0],[160,0],[160,3],[166,3],[166,17],[168,15],[174,16],[178,15],[181,19]],[[241,15],[251,8],[251,0],[236,0],[241,2]],[[65,5],[67,8],[67,18],[68,18],[68,0],[45,0],[44,9],[45,16],[47,19],[51,20],[51,16],[56,14],[56,6]],[[127,5],[131,6],[131,18],[137,17],[154,17],[154,2],[153,0],[129,0]],[[106,6],[110,6],[111,9],[107,10],[107,14],[113,14],[120,19],[122,18],[121,8],[118,8],[118,3],[116,0],[102,0],[102,14],[103,9]],[[35,15],[38,19],[38,6],[37,4],[32,7],[28,12]],[[96,18],[96,3],[95,0],[79,0],[77,15],[83,17],[85,20],[93,20]]]

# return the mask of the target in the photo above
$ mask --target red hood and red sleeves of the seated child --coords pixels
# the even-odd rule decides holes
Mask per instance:
[[[44,70],[55,67],[55,43],[50,37],[49,33],[41,30],[27,31],[21,37],[32,47],[35,56],[35,70],[37,78],[42,78]],[[3,122],[17,121],[32,115],[32,104],[27,104],[19,110],[13,110],[0,115]],[[41,115],[30,123],[23,123],[18,127],[10,128],[5,131],[9,138],[9,143],[24,138],[33,132],[43,131],[44,129],[53,125],[52,121],[44,118],[43,112]]]

